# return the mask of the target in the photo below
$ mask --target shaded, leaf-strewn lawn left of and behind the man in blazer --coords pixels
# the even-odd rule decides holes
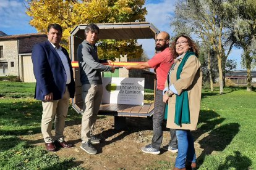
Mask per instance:
[[[41,133],[41,102],[35,83],[0,81],[0,169],[83,169],[74,158],[59,158],[32,147],[22,136]],[[78,114],[69,111],[69,119]]]

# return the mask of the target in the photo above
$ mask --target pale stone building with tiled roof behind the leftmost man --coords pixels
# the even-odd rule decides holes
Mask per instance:
[[[2,35],[2,36],[1,36]],[[46,34],[0,35],[0,76],[18,76],[21,81],[35,82],[31,60],[32,48],[46,41]]]

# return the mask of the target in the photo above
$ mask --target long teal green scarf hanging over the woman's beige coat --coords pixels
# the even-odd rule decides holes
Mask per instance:
[[[190,55],[195,55],[195,53],[187,52],[177,68],[177,80],[181,78],[182,69]],[[178,126],[181,126],[182,123],[190,124],[189,97],[186,90],[181,92],[180,95],[176,95],[174,123]]]

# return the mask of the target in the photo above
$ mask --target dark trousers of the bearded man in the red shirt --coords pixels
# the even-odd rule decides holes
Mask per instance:
[[[154,115],[153,115],[153,138],[151,145],[160,150],[163,140],[163,121],[164,121],[165,103],[163,102],[163,91],[156,89]],[[177,148],[177,136],[175,129],[170,129],[171,140],[169,146]]]

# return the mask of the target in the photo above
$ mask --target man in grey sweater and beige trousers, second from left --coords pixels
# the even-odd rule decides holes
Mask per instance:
[[[95,24],[89,24],[85,28],[85,40],[77,49],[79,60],[80,81],[82,83],[83,116],[80,148],[90,154],[96,154],[97,150],[92,144],[100,143],[100,139],[93,136],[93,126],[96,121],[103,95],[102,71],[111,71],[115,68],[101,64],[98,59],[97,47],[98,34],[100,29]]]

